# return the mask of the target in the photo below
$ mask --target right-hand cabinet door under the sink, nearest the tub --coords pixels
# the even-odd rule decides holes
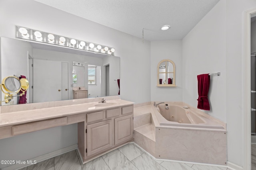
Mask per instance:
[[[133,115],[115,119],[115,145],[133,138]]]

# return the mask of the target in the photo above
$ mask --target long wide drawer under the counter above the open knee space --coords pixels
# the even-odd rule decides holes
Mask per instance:
[[[62,126],[67,124],[67,117],[58,119],[51,119],[46,121],[39,121],[35,123],[28,123],[25,125],[18,125],[12,127],[12,135],[20,135],[23,133],[29,133],[33,131],[39,131],[50,127]]]

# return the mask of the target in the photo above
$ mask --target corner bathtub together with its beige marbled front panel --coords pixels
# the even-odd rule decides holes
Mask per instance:
[[[226,165],[226,123],[184,102],[151,108],[156,158]]]

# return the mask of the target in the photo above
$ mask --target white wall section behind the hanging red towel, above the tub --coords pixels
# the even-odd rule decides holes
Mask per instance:
[[[198,74],[220,72],[210,77],[206,113],[226,122],[226,10],[220,1],[183,39],[183,102],[197,107]]]

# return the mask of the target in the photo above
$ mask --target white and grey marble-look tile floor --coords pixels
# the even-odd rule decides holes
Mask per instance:
[[[152,159],[136,145],[129,143],[86,164],[80,162],[77,150],[38,162],[20,170],[228,170]]]

